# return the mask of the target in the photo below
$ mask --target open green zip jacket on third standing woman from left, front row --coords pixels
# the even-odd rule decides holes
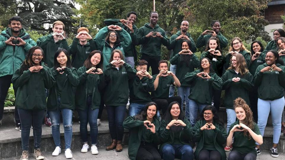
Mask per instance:
[[[75,109],[85,110],[88,88],[92,88],[92,109],[99,109],[101,103],[101,94],[100,92],[104,89],[105,85],[105,76],[102,74],[87,74],[87,69],[85,66],[80,67],[77,70],[79,76],[79,84],[75,93]],[[87,83],[93,82],[93,83]],[[89,86],[93,84],[93,86]]]

